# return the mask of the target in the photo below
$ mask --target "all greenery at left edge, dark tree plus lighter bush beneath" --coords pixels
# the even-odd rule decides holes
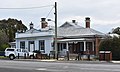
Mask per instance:
[[[27,27],[21,20],[11,19],[0,20],[0,51],[9,47],[9,42],[13,42],[16,32],[25,32]]]

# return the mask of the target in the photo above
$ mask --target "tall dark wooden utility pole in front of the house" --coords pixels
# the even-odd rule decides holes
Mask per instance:
[[[55,2],[55,58],[57,59],[58,49],[57,49],[57,2]]]

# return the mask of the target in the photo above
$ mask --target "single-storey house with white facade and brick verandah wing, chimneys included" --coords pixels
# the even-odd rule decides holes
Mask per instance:
[[[75,20],[65,22],[58,27],[57,50],[59,53],[65,54],[64,52],[69,51],[71,54],[98,55],[98,46],[105,34],[90,28],[89,17],[85,22],[86,27],[79,26]],[[48,27],[45,18],[42,18],[40,30],[34,29],[31,23],[28,31],[16,33],[16,48],[26,48],[28,51],[40,50],[49,54],[54,50],[54,35],[54,28]]]

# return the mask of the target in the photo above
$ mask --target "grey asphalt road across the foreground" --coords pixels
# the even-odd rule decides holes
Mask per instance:
[[[120,64],[0,60],[0,72],[120,72]]]

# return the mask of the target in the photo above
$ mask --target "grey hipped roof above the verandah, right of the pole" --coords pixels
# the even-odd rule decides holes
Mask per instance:
[[[69,36],[90,36],[100,35],[104,36],[104,33],[96,31],[92,28],[84,28],[78,24],[66,22],[58,28],[58,36],[69,37]]]

